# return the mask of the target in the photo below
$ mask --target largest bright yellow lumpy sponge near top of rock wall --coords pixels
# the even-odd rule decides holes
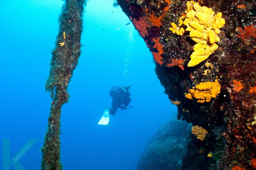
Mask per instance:
[[[218,45],[215,42],[220,40],[218,34],[220,33],[220,28],[225,24],[225,19],[222,18],[221,12],[214,15],[212,8],[200,6],[198,2],[194,1],[187,2],[185,13],[186,15],[183,13],[179,18],[179,27],[172,22],[170,30],[178,35],[183,35],[185,31],[190,31],[189,36],[193,41],[197,42],[194,46],[194,52],[190,56],[191,60],[188,62],[188,67],[193,67],[206,60],[218,49]]]

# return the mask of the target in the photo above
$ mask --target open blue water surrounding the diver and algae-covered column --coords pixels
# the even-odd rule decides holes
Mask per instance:
[[[45,82],[63,3],[1,0],[0,165],[4,138],[10,139],[10,159],[37,138],[19,162],[26,170],[40,169],[51,103]],[[61,161],[67,170],[135,170],[154,131],[176,115],[154,72],[152,54],[112,4],[90,0],[85,8],[82,53],[61,117]],[[97,125],[111,106],[110,84],[131,83],[134,108],[118,110],[108,125]]]

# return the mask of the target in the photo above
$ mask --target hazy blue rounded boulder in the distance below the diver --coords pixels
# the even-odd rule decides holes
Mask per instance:
[[[170,121],[160,127],[142,154],[138,170],[177,170],[185,154],[188,123]]]

